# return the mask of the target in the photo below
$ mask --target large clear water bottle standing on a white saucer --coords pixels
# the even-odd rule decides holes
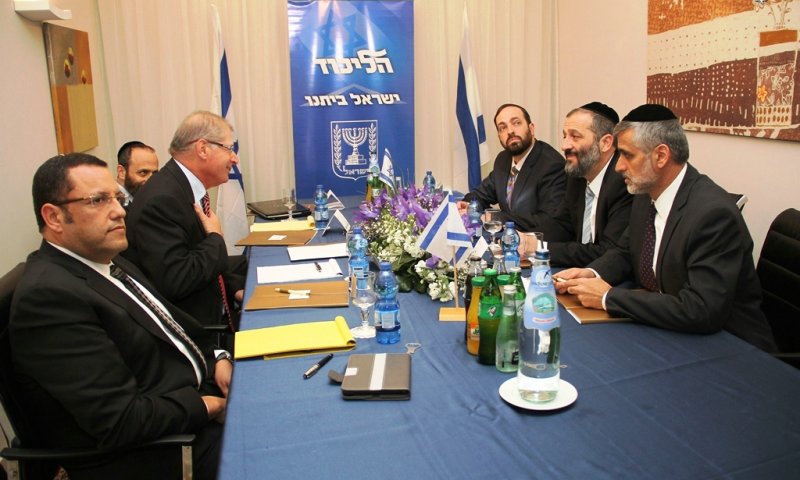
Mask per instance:
[[[549,402],[556,397],[560,348],[561,322],[550,273],[550,252],[545,243],[534,256],[519,327],[517,388],[522,398],[529,402]]]

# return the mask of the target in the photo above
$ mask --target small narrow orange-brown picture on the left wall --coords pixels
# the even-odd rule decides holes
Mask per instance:
[[[58,153],[97,146],[89,34],[42,24]]]

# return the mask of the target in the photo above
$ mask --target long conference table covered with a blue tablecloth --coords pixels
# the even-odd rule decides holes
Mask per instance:
[[[252,247],[249,260],[245,299],[257,266],[289,263],[285,247]],[[562,310],[561,378],[578,398],[536,411],[500,397],[513,374],[467,353],[463,322],[438,320],[452,302],[411,292],[399,303],[400,343],[358,340],[310,379],[322,355],[237,361],[219,478],[800,478],[800,370],[727,332],[581,325]],[[241,328],[336,315],[359,323],[353,306],[301,308],[248,311]],[[410,400],[344,400],[327,377],[351,353],[408,342],[422,344]]]

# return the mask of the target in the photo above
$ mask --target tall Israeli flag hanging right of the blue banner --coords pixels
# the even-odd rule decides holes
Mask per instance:
[[[472,54],[469,48],[469,21],[467,6],[464,5],[461,53],[458,59],[458,86],[456,88],[456,118],[461,129],[463,143],[456,145],[457,159],[466,157],[466,180],[469,190],[481,183],[481,165],[489,161],[489,145],[486,143],[486,128],[481,113],[481,99],[478,93],[478,80],[472,67]],[[464,174],[454,172],[454,185],[463,188]]]

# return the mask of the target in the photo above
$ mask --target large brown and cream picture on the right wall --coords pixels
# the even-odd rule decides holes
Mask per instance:
[[[684,128],[800,141],[792,0],[649,0],[647,101]]]

